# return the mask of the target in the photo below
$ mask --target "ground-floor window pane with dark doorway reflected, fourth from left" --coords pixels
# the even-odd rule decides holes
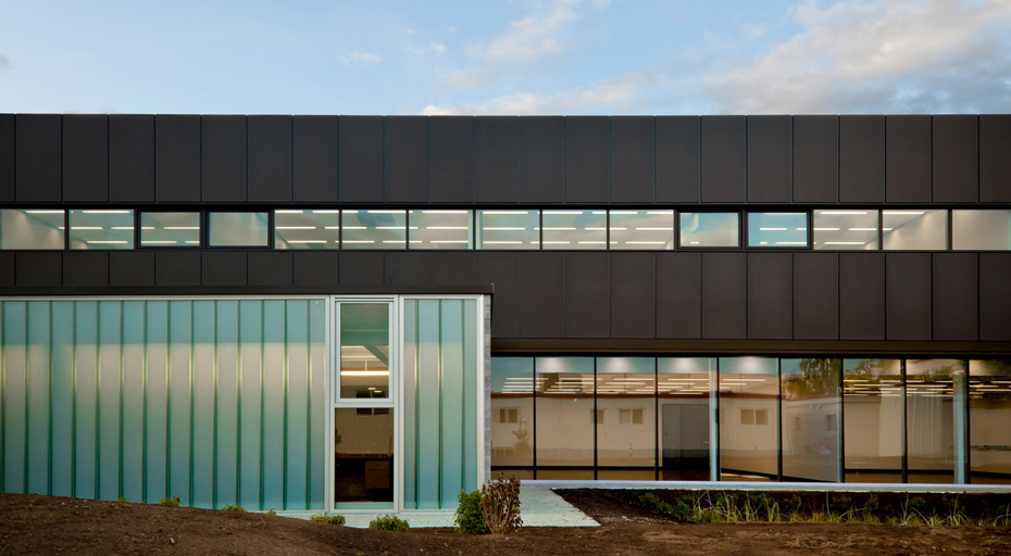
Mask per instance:
[[[665,481],[710,479],[710,388],[714,357],[659,357],[657,395],[660,424],[660,478]]]

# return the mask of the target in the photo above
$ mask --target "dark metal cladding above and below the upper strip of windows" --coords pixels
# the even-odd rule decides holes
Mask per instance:
[[[1009,208],[1009,152],[1008,115],[0,114],[0,207]],[[629,351],[706,340],[1008,352],[1009,276],[1011,253],[997,252],[0,252],[5,295],[494,283],[497,340]]]

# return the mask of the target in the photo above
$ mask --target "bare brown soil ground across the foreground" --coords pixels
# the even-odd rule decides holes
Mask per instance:
[[[0,494],[0,554],[1011,554],[1009,529],[678,525],[607,498],[574,501],[602,526],[526,528],[509,536],[395,533],[260,514]]]

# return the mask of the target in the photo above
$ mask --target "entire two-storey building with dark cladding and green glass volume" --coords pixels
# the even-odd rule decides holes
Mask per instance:
[[[1011,479],[1011,116],[0,115],[2,490]]]

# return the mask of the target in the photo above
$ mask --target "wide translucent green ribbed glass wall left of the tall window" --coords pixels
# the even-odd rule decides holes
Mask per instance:
[[[322,509],[324,307],[0,302],[0,490]]]

